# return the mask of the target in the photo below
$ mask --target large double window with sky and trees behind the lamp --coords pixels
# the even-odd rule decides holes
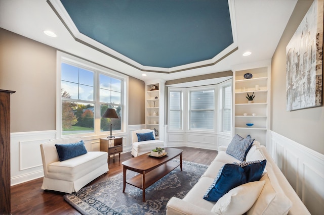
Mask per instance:
[[[61,62],[61,134],[123,130],[124,80],[84,64]],[[108,108],[118,119],[102,118]]]

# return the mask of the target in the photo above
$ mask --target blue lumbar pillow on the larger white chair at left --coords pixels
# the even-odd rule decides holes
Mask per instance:
[[[83,140],[77,143],[55,144],[60,161],[88,153]]]

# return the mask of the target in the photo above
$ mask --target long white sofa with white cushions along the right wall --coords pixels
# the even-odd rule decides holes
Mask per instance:
[[[217,202],[203,199],[204,194],[216,178],[224,164],[240,161],[220,147],[209,168],[183,199],[172,197],[167,204],[167,214],[310,214],[285,176],[268,154],[265,146],[255,141],[249,150],[246,161],[266,159],[266,167],[259,182],[250,182],[233,188]],[[263,182],[264,181],[264,182]],[[251,202],[251,192],[261,184],[256,200]],[[248,187],[250,185],[250,187]],[[250,205],[249,205],[250,204]],[[252,206],[251,206],[252,205]],[[240,211],[246,207],[246,211]],[[239,212],[238,212],[239,211]]]

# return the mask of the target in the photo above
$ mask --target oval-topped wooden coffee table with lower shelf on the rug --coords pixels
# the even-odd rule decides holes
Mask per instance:
[[[177,148],[166,148],[168,154],[163,157],[151,157],[145,153],[121,163],[123,164],[124,171],[123,193],[125,192],[126,184],[138,187],[143,190],[143,202],[145,202],[145,189],[147,187],[151,186],[179,166],[182,171],[182,151],[182,149]],[[177,156],[180,156],[180,164],[170,162],[171,159]],[[140,174],[126,180],[127,170]]]

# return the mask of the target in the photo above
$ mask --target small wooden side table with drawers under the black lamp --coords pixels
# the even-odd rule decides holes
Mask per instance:
[[[108,152],[108,164],[110,160],[110,155],[113,155],[115,159],[115,154],[123,152],[123,137],[113,137],[113,138],[100,138],[100,151]]]

